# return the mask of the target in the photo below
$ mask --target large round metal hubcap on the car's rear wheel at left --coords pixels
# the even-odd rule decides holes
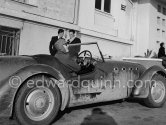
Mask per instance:
[[[29,92],[24,111],[34,121],[41,121],[47,118],[54,108],[54,96],[51,90],[46,87],[37,88]]]

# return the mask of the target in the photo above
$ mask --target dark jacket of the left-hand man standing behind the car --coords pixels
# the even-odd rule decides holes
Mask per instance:
[[[52,56],[55,56],[57,50],[54,46],[54,44],[58,41],[58,36],[53,36],[51,41],[50,41],[50,45],[49,45],[49,50],[50,50],[50,54]]]

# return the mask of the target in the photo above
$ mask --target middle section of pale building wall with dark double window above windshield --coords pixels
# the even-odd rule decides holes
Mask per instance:
[[[131,56],[133,3],[130,0],[80,0],[82,40],[97,41],[104,54]]]

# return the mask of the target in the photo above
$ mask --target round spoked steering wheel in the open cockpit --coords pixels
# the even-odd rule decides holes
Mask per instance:
[[[89,50],[84,50],[81,53],[79,53],[78,59],[79,59],[78,63],[88,67],[92,62],[92,53]]]

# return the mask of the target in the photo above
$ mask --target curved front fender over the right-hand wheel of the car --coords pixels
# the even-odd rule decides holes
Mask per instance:
[[[152,84],[153,76],[158,73],[166,78],[166,71],[159,66],[152,66],[147,69],[139,79],[135,81],[135,87],[133,89],[133,96],[137,98],[147,98],[149,95],[149,89]],[[166,84],[166,83],[165,83]]]

